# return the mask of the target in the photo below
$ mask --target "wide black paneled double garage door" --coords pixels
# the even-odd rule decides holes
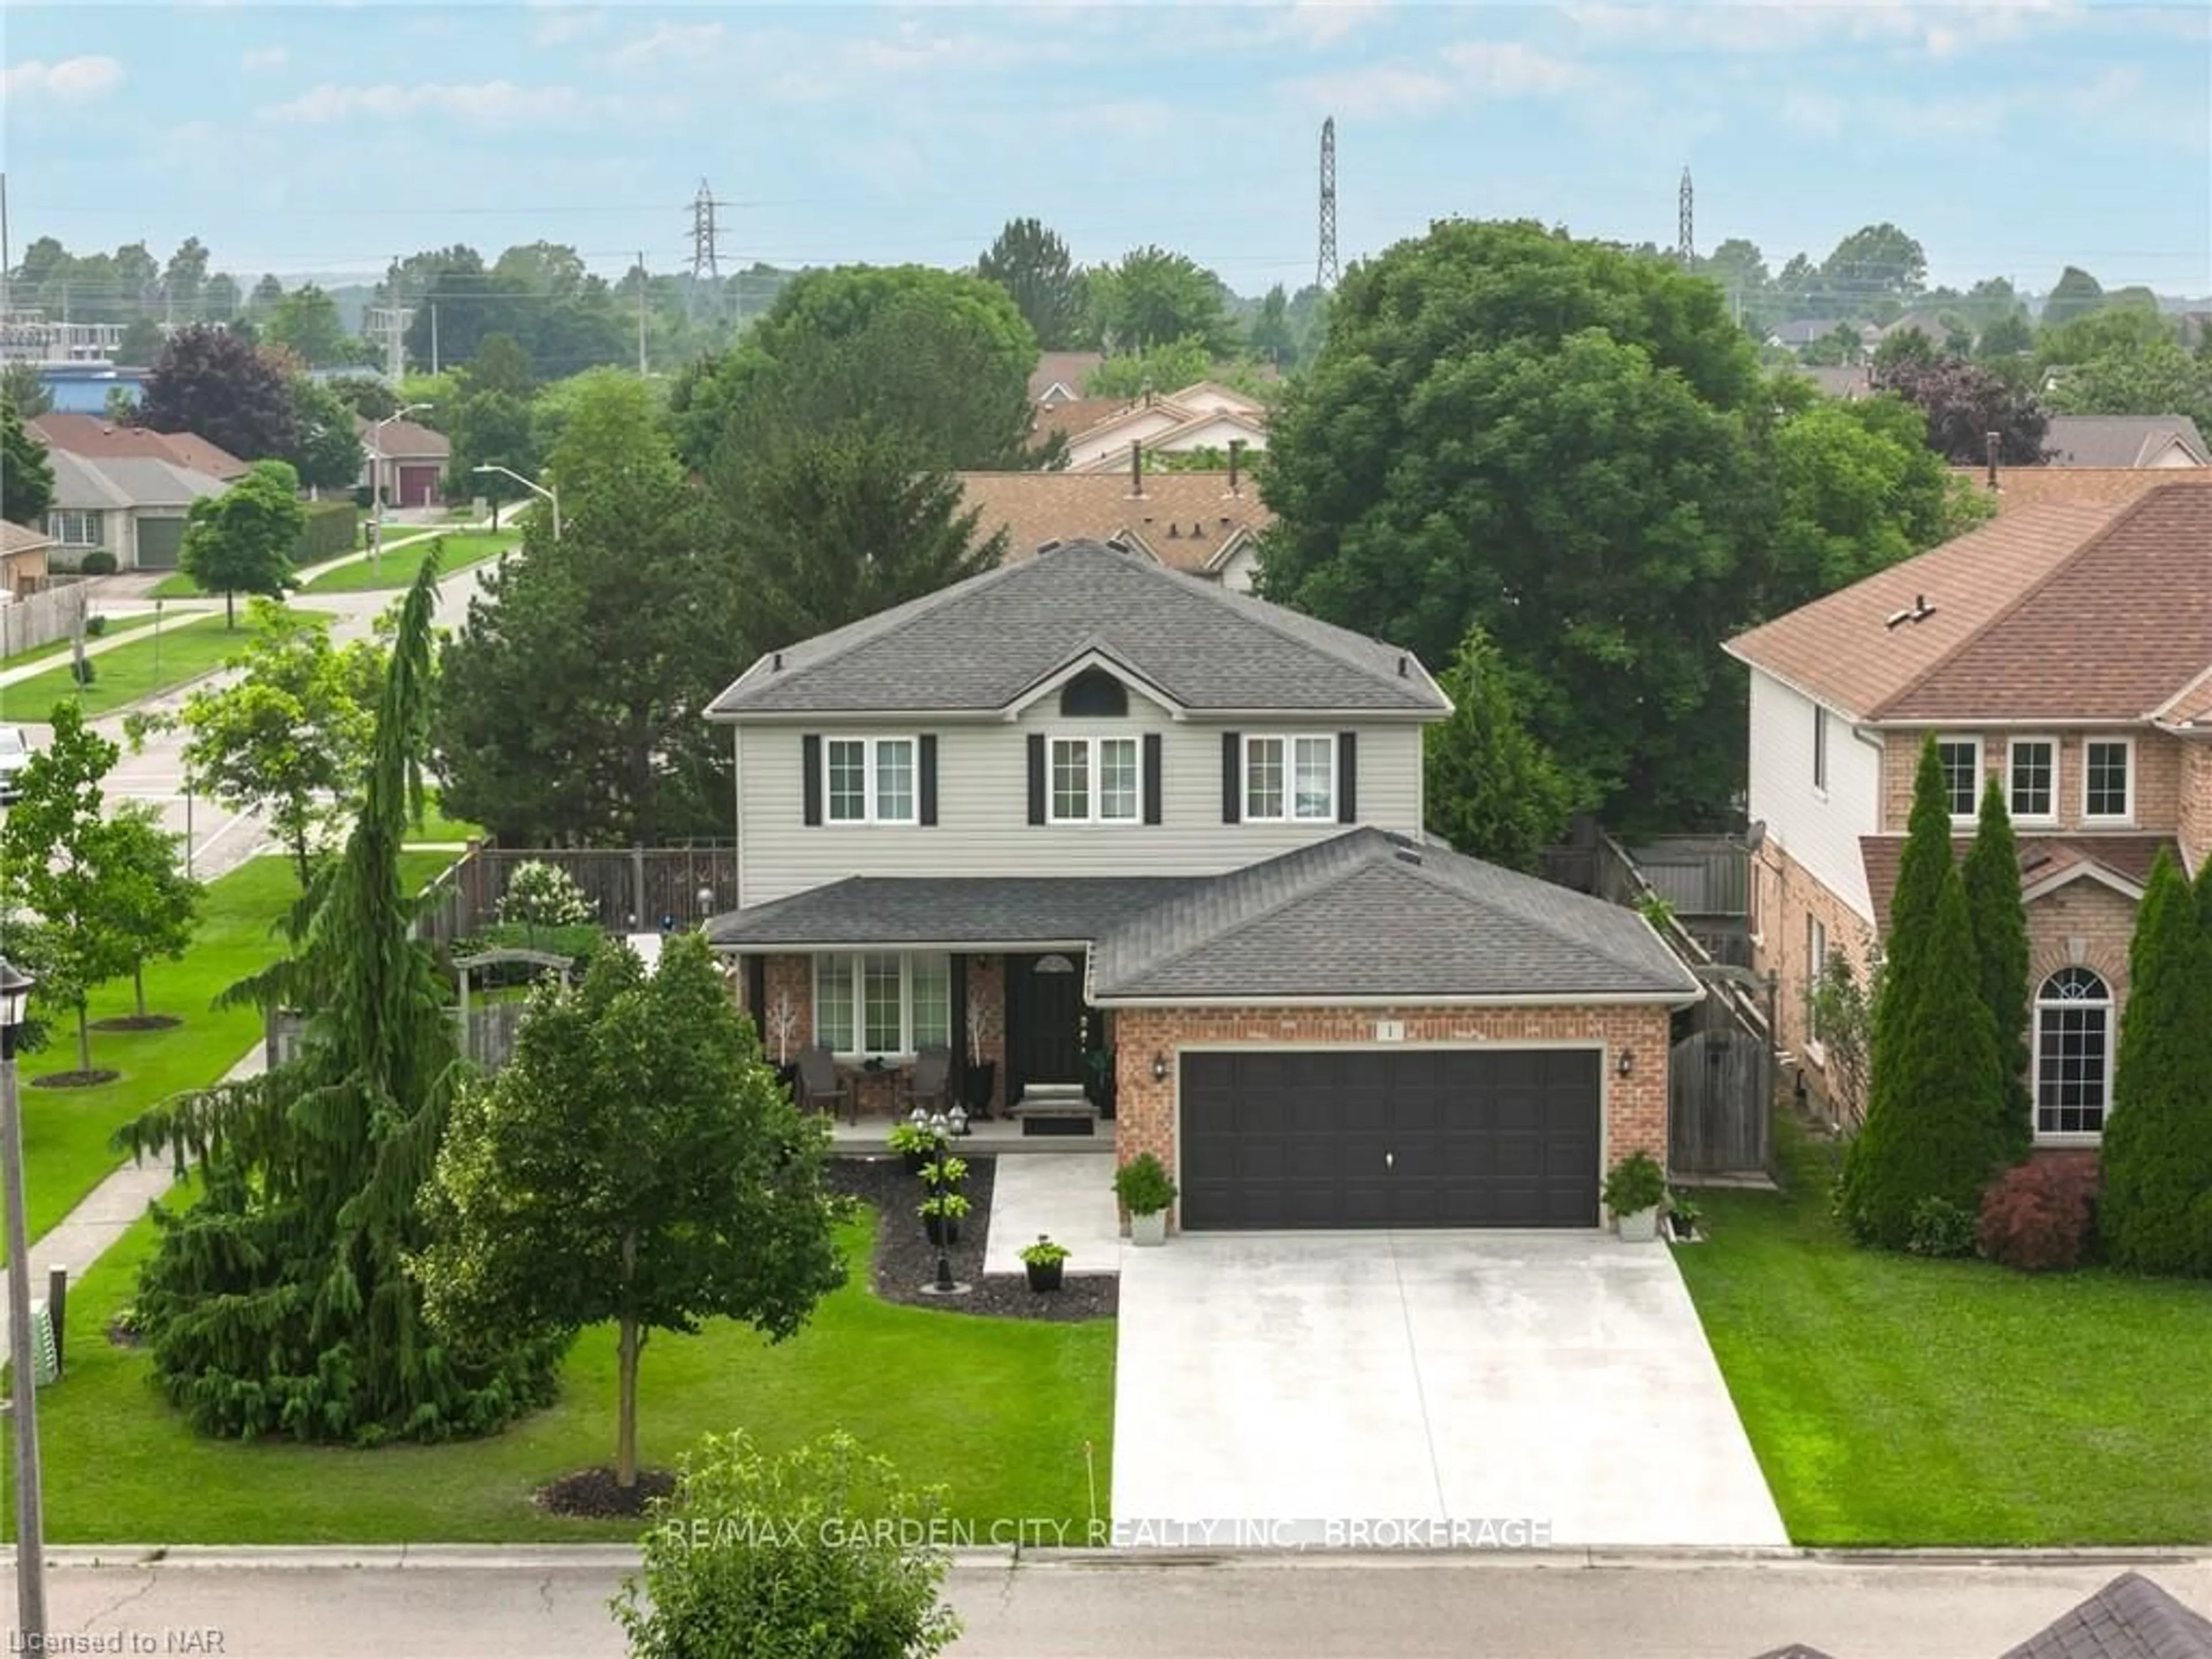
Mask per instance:
[[[1181,1223],[1595,1228],[1595,1048],[1183,1055]]]

